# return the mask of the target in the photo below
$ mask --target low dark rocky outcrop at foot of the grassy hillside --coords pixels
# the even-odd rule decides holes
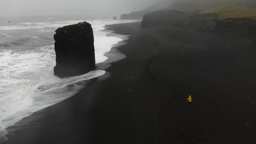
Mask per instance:
[[[255,33],[256,20],[219,19],[217,14],[187,14],[177,10],[155,11],[144,15],[142,28],[188,27],[202,31]]]

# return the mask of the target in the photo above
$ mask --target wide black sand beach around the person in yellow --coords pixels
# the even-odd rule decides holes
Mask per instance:
[[[127,58],[74,97],[8,128],[4,143],[255,143],[255,40],[190,28],[108,26]],[[193,105],[186,99],[193,97]]]

